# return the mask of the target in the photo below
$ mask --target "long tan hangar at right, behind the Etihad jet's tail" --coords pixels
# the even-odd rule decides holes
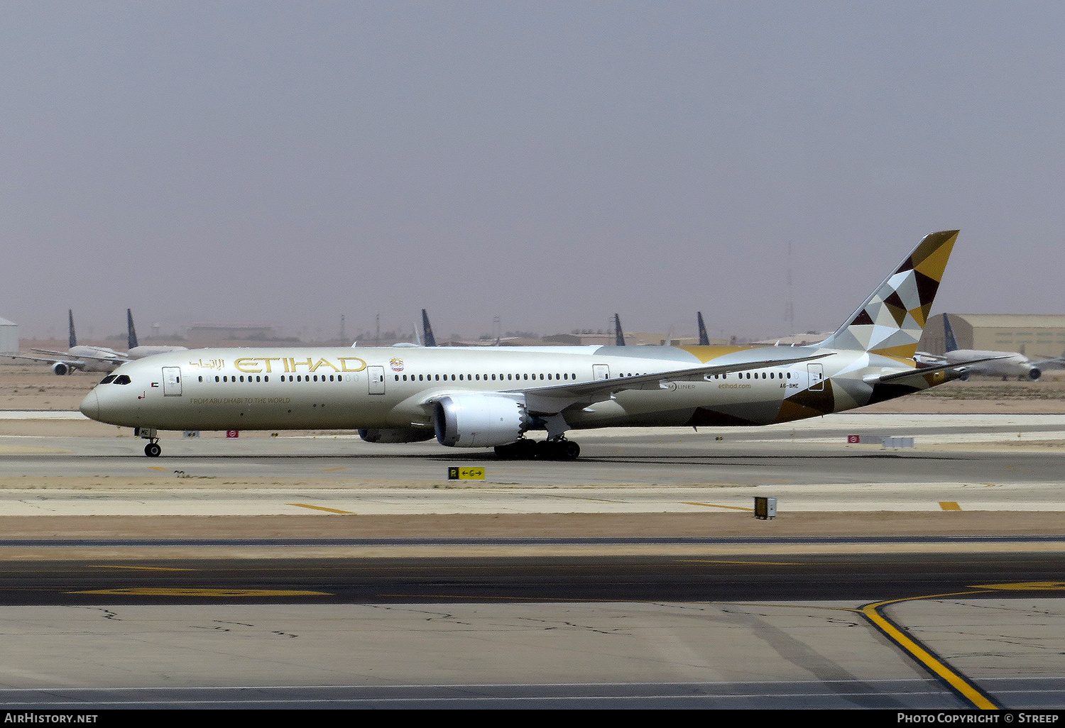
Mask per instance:
[[[1048,359],[1065,351],[1065,315],[1056,314],[937,314],[924,327],[918,349],[940,355],[947,351],[944,316],[950,316],[958,349]]]

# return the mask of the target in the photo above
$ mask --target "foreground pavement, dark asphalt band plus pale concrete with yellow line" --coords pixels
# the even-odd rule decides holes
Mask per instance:
[[[1063,586],[1056,555],[9,563],[0,700],[1046,709]]]

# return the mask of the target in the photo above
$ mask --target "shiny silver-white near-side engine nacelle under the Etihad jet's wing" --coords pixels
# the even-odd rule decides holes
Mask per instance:
[[[528,429],[525,406],[509,397],[487,394],[448,395],[432,411],[437,441],[447,447],[509,445]]]

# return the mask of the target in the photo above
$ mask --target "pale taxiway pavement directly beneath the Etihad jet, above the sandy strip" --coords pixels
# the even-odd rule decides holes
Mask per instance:
[[[913,449],[848,444],[906,435]],[[7,515],[1065,511],[1065,417],[838,415],[775,428],[578,433],[572,463],[357,436],[0,437]],[[718,440],[721,437],[721,440]],[[484,481],[447,480],[450,465]]]

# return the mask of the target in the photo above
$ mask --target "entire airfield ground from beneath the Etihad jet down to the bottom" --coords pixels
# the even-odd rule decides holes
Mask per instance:
[[[575,463],[314,433],[147,459],[51,426],[0,436],[9,707],[1065,705],[1062,416],[589,432]],[[847,443],[870,432],[915,447]],[[649,524],[668,543],[625,539]],[[724,524],[767,537],[690,537]],[[914,540],[817,537],[876,524]],[[960,524],[984,539],[923,537]],[[157,531],[183,546],[121,545]]]

